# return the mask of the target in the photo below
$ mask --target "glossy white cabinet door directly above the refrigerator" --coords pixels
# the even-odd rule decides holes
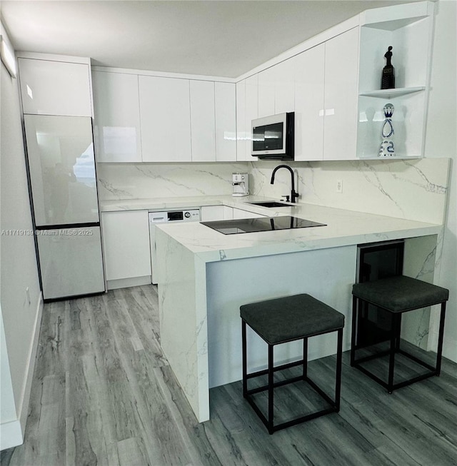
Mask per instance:
[[[92,116],[89,65],[18,59],[24,113]]]

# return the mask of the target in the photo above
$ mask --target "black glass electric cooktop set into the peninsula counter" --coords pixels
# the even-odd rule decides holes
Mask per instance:
[[[224,233],[224,235],[256,233],[258,231],[291,230],[293,228],[309,228],[311,226],[326,226],[325,223],[312,222],[311,220],[291,216],[240,218],[200,223],[202,225],[209,226],[209,228],[213,228],[213,230],[219,231],[219,233]]]

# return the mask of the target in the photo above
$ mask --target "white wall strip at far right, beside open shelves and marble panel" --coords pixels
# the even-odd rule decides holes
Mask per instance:
[[[457,361],[457,2],[436,4],[426,157],[450,157],[446,228],[438,285],[450,290],[443,355]]]

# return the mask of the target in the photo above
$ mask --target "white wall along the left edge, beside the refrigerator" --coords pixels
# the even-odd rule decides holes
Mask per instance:
[[[4,449],[22,442],[42,305],[34,235],[30,234],[17,80],[9,76],[3,64],[0,73],[0,447]]]

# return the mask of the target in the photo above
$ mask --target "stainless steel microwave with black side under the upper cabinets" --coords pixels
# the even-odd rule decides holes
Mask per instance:
[[[269,160],[293,160],[295,113],[278,113],[252,121],[251,155]]]

